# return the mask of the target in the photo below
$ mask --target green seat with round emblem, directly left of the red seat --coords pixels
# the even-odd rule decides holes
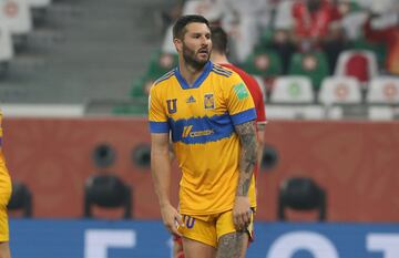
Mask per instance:
[[[329,75],[326,54],[323,52],[295,53],[289,62],[288,74],[309,76],[314,90],[318,91],[321,81]]]

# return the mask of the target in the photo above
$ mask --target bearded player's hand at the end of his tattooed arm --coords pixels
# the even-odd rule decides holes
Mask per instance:
[[[247,196],[236,196],[233,207],[233,221],[237,230],[245,230],[252,217],[250,202]]]

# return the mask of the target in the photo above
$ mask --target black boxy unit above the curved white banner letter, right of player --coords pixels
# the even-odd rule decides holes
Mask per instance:
[[[290,177],[282,182],[278,192],[277,218],[288,220],[286,208],[318,210],[318,220],[326,220],[326,192],[308,177]]]

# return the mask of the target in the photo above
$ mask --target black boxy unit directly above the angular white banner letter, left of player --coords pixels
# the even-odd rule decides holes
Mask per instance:
[[[132,217],[132,190],[116,175],[92,175],[84,187],[84,217],[93,217],[92,206],[104,208],[123,207],[123,218]]]

